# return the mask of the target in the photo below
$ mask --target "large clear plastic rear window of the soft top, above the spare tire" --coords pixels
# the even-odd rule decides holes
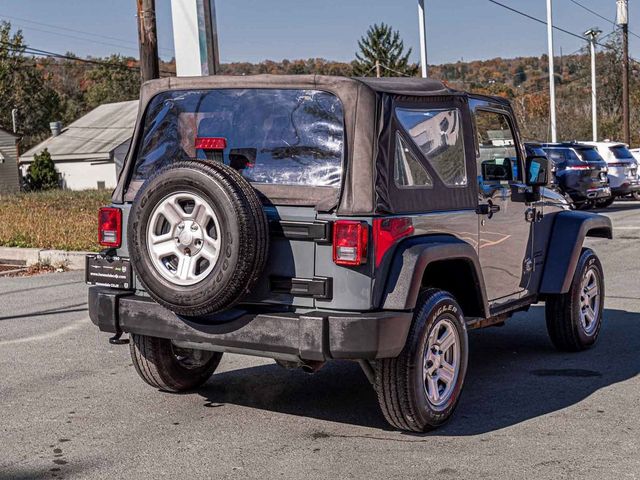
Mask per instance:
[[[132,180],[177,160],[231,165],[254,183],[339,186],[340,100],[317,90],[164,92],[150,102]]]

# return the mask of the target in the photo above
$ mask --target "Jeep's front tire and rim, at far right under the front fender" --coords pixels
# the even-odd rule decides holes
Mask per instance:
[[[592,347],[602,328],[604,273],[593,252],[582,250],[569,291],[546,300],[547,330],[558,350],[577,352]]]

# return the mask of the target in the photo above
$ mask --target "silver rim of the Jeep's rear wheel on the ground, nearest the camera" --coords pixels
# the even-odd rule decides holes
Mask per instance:
[[[436,408],[447,404],[460,373],[460,335],[453,320],[440,319],[431,329],[422,370],[429,402]]]

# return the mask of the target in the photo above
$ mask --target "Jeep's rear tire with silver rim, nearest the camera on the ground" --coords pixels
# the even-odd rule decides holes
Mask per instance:
[[[387,421],[413,432],[444,424],[460,399],[467,360],[462,309],[449,293],[426,290],[400,355],[376,362],[375,389]]]

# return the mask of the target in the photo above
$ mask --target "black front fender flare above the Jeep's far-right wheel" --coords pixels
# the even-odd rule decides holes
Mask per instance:
[[[569,291],[586,237],[611,240],[611,219],[579,211],[563,211],[555,215],[540,282],[540,294]]]

